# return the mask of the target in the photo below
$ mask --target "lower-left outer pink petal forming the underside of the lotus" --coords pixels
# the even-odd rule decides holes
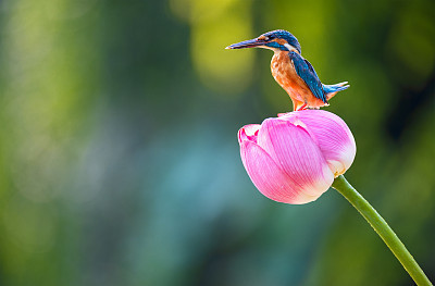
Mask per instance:
[[[240,144],[240,156],[245,169],[256,187],[265,197],[285,203],[307,203],[318,199],[295,186],[293,179],[257,144],[245,140]]]

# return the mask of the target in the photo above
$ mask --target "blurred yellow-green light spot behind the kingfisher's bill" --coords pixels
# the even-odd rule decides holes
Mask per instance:
[[[184,5],[182,5],[184,3]],[[251,82],[251,50],[225,50],[253,37],[250,1],[172,0],[171,9],[191,26],[191,59],[201,82],[220,94],[240,94]]]

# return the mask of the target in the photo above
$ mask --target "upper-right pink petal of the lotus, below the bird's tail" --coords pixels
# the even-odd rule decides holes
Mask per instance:
[[[346,172],[353,162],[357,146],[346,123],[334,113],[324,110],[302,110],[287,113],[281,119],[301,121],[318,142],[335,176]]]

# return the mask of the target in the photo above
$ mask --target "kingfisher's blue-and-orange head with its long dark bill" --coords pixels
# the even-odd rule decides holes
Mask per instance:
[[[226,49],[263,48],[270,50],[290,51],[296,50],[300,53],[298,39],[291,33],[284,29],[276,29],[264,33],[257,38],[233,43]]]

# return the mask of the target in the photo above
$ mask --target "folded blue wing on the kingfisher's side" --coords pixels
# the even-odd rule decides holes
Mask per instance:
[[[289,52],[289,57],[295,66],[296,73],[303,82],[306,82],[314,97],[327,103],[326,96],[323,92],[322,83],[311,63],[294,51]]]

